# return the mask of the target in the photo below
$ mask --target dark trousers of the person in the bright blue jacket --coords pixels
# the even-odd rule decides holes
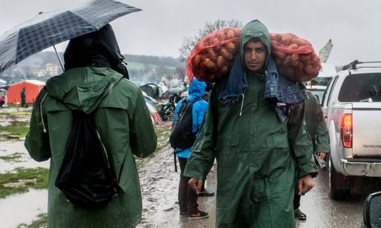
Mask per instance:
[[[180,165],[180,183],[179,183],[179,206],[180,212],[188,212],[189,214],[197,214],[199,204],[197,204],[197,193],[188,186],[190,177],[183,176],[186,158],[178,157]]]

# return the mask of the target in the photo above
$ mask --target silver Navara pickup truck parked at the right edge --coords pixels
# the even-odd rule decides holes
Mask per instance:
[[[323,94],[331,198],[361,184],[354,176],[381,177],[381,68],[359,68],[360,63],[344,66]]]

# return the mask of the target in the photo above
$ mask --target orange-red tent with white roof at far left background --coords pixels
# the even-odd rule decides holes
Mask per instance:
[[[25,87],[25,102],[34,103],[40,90],[45,86],[45,82],[38,80],[25,80],[9,86],[6,96],[8,103],[21,102],[20,93],[22,88]]]

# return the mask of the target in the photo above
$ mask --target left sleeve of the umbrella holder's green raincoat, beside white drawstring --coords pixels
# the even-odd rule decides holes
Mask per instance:
[[[40,110],[41,100],[46,93],[46,90],[42,89],[36,98],[30,117],[29,132],[24,143],[30,157],[36,161],[46,161],[51,157],[49,133],[44,132],[44,126],[46,130],[48,129],[48,121],[44,110],[42,109],[42,112]]]

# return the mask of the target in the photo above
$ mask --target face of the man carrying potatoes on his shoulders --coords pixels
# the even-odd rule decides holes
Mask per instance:
[[[266,63],[267,48],[261,41],[248,41],[243,45],[243,62],[250,71],[258,71]]]

